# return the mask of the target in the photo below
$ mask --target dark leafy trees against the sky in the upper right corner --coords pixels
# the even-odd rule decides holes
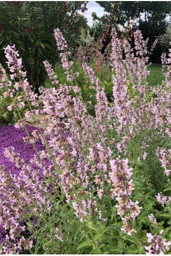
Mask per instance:
[[[166,17],[171,13],[170,1],[97,1],[97,3],[99,3],[99,5],[108,13],[111,12],[112,5],[115,4],[113,16],[117,16],[118,19],[117,21],[116,19],[112,21],[114,26],[128,26],[135,17],[137,22],[131,29],[132,31],[140,29],[144,39],[149,38],[149,50],[156,37],[164,34],[165,29],[168,26]],[[102,24],[104,25],[106,23],[108,16],[104,15],[99,18],[95,13],[92,16],[94,20],[98,20],[98,23],[95,25],[96,31],[102,31]],[[162,48],[160,45],[157,45],[156,49],[153,51],[153,55],[150,56],[150,61],[160,61],[161,54]]]

